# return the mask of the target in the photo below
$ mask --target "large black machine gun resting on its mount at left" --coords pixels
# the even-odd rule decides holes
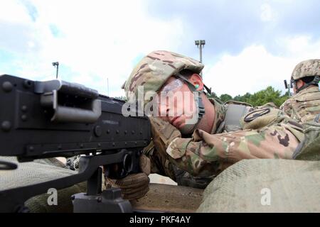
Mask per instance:
[[[16,156],[19,162],[82,157],[78,174],[0,192],[0,212],[24,211],[32,196],[84,181],[87,193],[72,196],[73,211],[132,211],[119,189],[101,189],[101,166],[108,177],[139,172],[139,155],[151,140],[149,118],[123,116],[123,104],[81,84],[1,75],[0,156]],[[0,170],[16,168],[0,157]]]

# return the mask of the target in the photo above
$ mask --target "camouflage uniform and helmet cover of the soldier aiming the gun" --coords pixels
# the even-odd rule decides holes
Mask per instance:
[[[137,98],[138,86],[144,86],[146,92],[158,92],[169,77],[181,70],[188,69],[200,73],[203,65],[183,55],[166,51],[154,51],[144,57],[135,67],[124,84],[129,100]],[[149,96],[144,96],[145,103]],[[210,99],[215,107],[215,121],[211,133],[197,129],[192,138],[182,138],[180,131],[169,122],[158,117],[150,117],[153,143],[145,148],[144,153],[151,159],[151,172],[171,177],[176,180],[176,167],[193,175],[193,179],[208,179],[226,167],[242,159],[252,158],[292,158],[292,153],[303,138],[302,127],[284,116],[282,111],[262,107],[255,109],[250,117],[255,126],[242,121],[244,131],[228,131],[223,126],[225,107],[215,99]],[[260,121],[261,116],[267,121]],[[253,118],[252,118],[253,117]],[[263,124],[264,123],[264,124]],[[219,134],[215,134],[219,133]],[[192,178],[192,177],[191,177]]]

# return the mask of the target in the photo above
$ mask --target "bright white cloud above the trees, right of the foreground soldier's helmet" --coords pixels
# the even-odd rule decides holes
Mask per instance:
[[[284,91],[283,81],[290,79],[295,65],[319,58],[320,40],[311,42],[311,38],[299,36],[283,38],[278,43],[284,47],[285,55],[272,55],[263,45],[251,45],[239,55],[223,55],[214,65],[205,67],[204,82],[218,95],[253,93],[270,85]]]

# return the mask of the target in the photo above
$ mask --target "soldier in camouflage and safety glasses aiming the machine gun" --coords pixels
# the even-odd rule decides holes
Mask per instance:
[[[138,63],[123,86],[129,101],[158,104],[153,113],[159,116],[150,116],[153,141],[144,149],[151,172],[171,177],[179,185],[204,188],[243,159],[292,159],[304,138],[299,122],[272,105],[252,108],[208,99],[202,69],[190,57],[154,51]],[[151,99],[152,92],[156,96]],[[170,92],[169,97],[187,93],[191,98],[168,101],[163,92]],[[193,123],[187,122],[190,113],[196,116]]]

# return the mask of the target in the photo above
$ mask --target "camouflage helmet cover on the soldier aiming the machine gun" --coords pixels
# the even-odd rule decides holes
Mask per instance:
[[[203,64],[191,57],[157,50],[142,58],[123,88],[128,101],[132,101],[134,98],[137,99],[138,90],[143,86],[144,104],[146,104],[151,98],[146,96],[147,92],[158,92],[169,77],[181,70],[191,70],[199,74],[202,69]]]

